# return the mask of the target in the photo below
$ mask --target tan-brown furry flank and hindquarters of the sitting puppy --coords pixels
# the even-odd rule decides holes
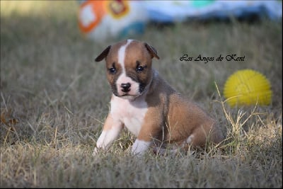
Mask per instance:
[[[195,103],[187,101],[176,93],[158,75],[149,88],[146,102],[149,110],[138,139],[145,141],[156,139],[157,143],[182,144],[193,134],[194,147],[203,147],[207,139],[209,142],[221,142],[223,137],[215,120]]]

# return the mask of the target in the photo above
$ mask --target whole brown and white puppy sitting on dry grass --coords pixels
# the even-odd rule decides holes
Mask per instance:
[[[215,121],[180,96],[151,67],[154,57],[159,59],[154,47],[137,40],[117,42],[96,57],[96,62],[105,59],[113,94],[93,154],[108,149],[124,126],[137,136],[133,154],[143,154],[153,144],[202,147],[207,141],[221,142]]]

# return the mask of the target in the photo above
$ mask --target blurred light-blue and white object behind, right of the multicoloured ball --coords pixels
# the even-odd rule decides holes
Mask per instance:
[[[236,18],[255,14],[271,20],[282,18],[282,1],[144,1],[149,20],[156,22],[185,21],[190,18]]]

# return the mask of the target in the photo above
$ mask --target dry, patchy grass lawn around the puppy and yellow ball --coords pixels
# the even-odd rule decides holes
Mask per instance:
[[[136,38],[161,57],[154,67],[221,123],[221,147],[137,159],[123,131],[108,153],[92,151],[109,110],[104,47],[83,38],[76,1],[1,1],[1,188],[282,188],[282,22],[148,25]],[[180,62],[229,54],[243,62]],[[272,104],[231,108],[223,86],[255,69]]]

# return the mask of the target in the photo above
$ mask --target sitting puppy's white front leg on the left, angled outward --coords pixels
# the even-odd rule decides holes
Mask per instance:
[[[109,114],[105,120],[105,124],[103,126],[103,131],[98,137],[98,141],[96,142],[96,148],[93,151],[93,156],[95,156],[98,152],[98,149],[108,149],[110,144],[117,139],[123,124],[119,120],[114,120],[112,116]]]

